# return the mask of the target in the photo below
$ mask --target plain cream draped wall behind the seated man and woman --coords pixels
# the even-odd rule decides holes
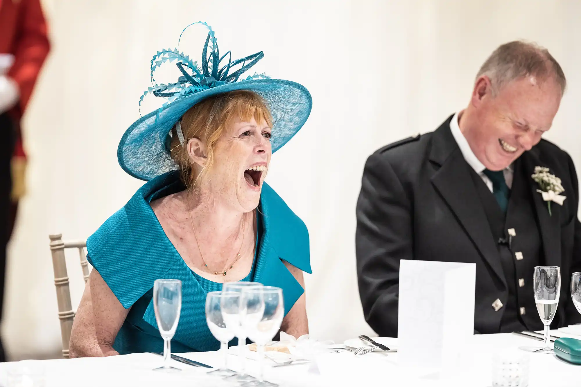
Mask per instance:
[[[13,357],[60,349],[48,234],[87,238],[140,187],[117,164],[138,118],[149,60],[188,23],[216,30],[236,58],[264,51],[252,71],[313,95],[309,121],[272,158],[268,182],[311,237],[311,334],[371,333],[357,291],[355,205],[365,159],[384,144],[435,129],[464,107],[474,75],[499,44],[525,38],[560,61],[569,89],[547,138],[581,168],[581,4],[557,0],[45,0],[52,52],[24,119],[28,195],[9,247],[6,346]],[[202,42],[181,46],[199,59]],[[83,280],[69,257],[73,303]]]

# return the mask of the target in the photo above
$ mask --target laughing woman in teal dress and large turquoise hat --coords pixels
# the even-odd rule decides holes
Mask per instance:
[[[157,52],[152,74],[172,63],[182,76],[153,81],[146,94],[168,103],[121,138],[121,167],[147,182],[87,240],[94,270],[74,320],[71,357],[161,351],[152,300],[158,278],[182,281],[174,352],[218,349],[205,300],[229,281],[279,286],[281,330],[308,333],[309,234],[264,177],[271,154],[307,120],[311,96],[263,74],[241,80],[263,53],[220,57],[211,28],[193,24],[209,30],[202,66],[177,49]]]

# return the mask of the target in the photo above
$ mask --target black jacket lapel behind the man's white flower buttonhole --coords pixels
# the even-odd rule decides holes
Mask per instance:
[[[536,166],[549,167],[550,169],[550,166],[540,159],[539,150],[537,148],[533,148],[528,152],[523,153],[521,157],[522,166],[525,169],[526,175],[529,177],[534,173]],[[554,173],[554,171],[551,169],[550,173]],[[537,221],[539,222],[541,239],[543,240],[543,251],[546,264],[550,266],[561,266],[561,212],[558,210],[558,207],[560,206],[551,203],[552,215],[549,215],[547,202],[545,202],[541,194],[537,192],[539,185],[532,179],[532,177],[529,179],[529,187],[532,191],[533,201],[535,202],[535,210]]]

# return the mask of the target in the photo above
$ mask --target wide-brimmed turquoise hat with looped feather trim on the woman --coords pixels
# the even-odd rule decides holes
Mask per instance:
[[[201,66],[188,55],[178,51],[180,40],[188,27],[199,24],[207,28],[208,35],[202,50]],[[179,120],[193,105],[210,96],[235,90],[250,90],[266,101],[272,114],[272,153],[286,144],[303,126],[313,106],[309,91],[302,85],[279,79],[271,79],[264,74],[242,77],[250,67],[264,57],[262,51],[232,60],[230,51],[220,56],[214,31],[207,23],[189,24],[180,35],[178,47],[157,51],[151,60],[152,87],[141,96],[152,94],[166,99],[163,105],[142,116],[125,131],[119,147],[117,159],[121,168],[141,180],[179,169],[170,157],[171,131],[177,128],[180,142],[183,134]],[[182,76],[175,83],[157,83],[154,72],[163,64],[175,62]]]

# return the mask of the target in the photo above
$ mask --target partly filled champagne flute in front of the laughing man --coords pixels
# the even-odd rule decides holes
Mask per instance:
[[[559,304],[561,292],[561,270],[558,266],[536,266],[533,276],[533,289],[537,311],[544,324],[544,346],[539,353],[554,353],[548,341],[548,330]]]

